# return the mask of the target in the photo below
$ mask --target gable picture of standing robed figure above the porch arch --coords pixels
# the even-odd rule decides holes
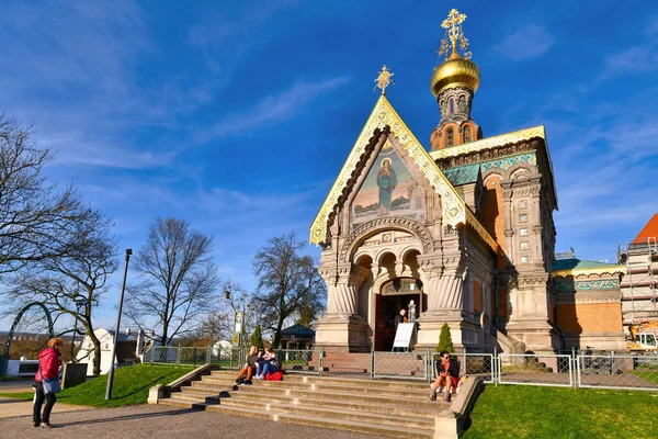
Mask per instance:
[[[430,189],[430,185],[427,181],[418,181],[413,177],[417,172],[405,164],[394,143],[387,139],[352,199],[351,229],[386,216],[402,216],[423,223],[427,217],[426,188]]]

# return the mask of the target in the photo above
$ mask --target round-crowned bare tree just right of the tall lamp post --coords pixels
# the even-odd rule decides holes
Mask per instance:
[[[164,346],[195,330],[218,284],[212,251],[213,238],[184,219],[156,218],[135,258],[141,281],[127,289],[128,317],[140,328],[155,318]]]

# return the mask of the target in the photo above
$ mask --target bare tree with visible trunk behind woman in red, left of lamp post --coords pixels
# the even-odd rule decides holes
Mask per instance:
[[[117,269],[117,243],[110,232],[111,219],[100,211],[84,209],[79,219],[60,237],[67,252],[34,261],[14,273],[13,288],[5,296],[21,306],[26,302],[43,302],[57,317],[69,315],[77,319],[78,327],[84,329],[93,344],[93,374],[98,375],[101,344],[94,334],[92,312],[107,290],[107,279]]]

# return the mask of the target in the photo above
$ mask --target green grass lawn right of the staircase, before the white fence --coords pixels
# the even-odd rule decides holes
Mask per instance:
[[[658,393],[488,384],[464,438],[658,438]]]

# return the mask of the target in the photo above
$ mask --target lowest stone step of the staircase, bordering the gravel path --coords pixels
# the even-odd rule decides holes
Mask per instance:
[[[263,412],[248,407],[238,407],[229,405],[217,405],[206,407],[208,412],[218,412],[226,414],[235,414],[238,416],[249,416],[261,419],[271,419],[276,421],[303,424],[316,427],[332,428],[338,430],[358,431],[361,434],[376,435],[378,437],[388,438],[431,438],[433,432],[419,428],[400,428],[395,426],[372,425],[347,419],[331,419],[318,416],[308,416],[299,414],[291,414],[284,412]]]

